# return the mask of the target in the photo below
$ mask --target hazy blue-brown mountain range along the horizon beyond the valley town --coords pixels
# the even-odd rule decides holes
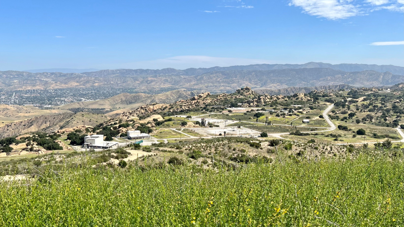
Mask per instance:
[[[342,70],[343,69],[343,70]],[[356,70],[356,71],[355,71]],[[392,73],[394,72],[394,73]],[[303,65],[239,65],[230,67],[166,69],[107,69],[83,73],[0,71],[5,90],[119,86],[137,91],[173,87],[207,91],[294,87],[383,86],[404,81],[404,67],[306,63]]]

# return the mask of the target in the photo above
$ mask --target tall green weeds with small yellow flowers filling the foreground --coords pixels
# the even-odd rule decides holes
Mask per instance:
[[[66,168],[0,183],[1,226],[402,226],[402,160]]]

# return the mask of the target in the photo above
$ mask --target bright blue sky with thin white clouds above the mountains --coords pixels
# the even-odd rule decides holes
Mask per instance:
[[[404,66],[404,0],[9,1],[0,70]]]

